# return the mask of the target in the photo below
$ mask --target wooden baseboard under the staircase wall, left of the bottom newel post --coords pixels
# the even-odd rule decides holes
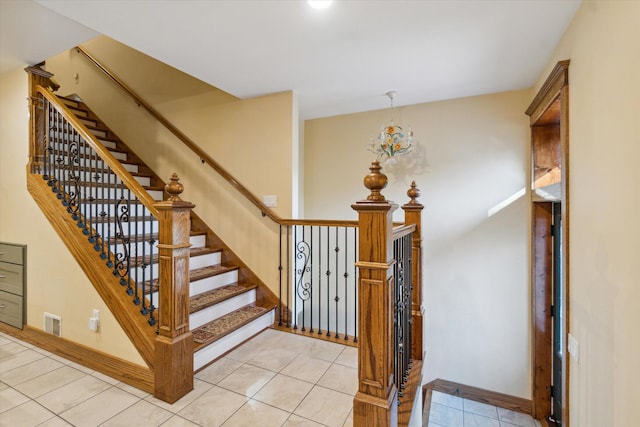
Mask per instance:
[[[29,325],[20,330],[0,322],[0,332],[89,369],[96,370],[147,393],[153,393],[153,373],[146,366],[136,365],[68,339],[47,334]]]

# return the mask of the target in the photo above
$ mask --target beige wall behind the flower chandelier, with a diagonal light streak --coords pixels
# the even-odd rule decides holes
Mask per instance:
[[[442,378],[531,397],[524,193],[531,97],[524,90],[396,111],[396,123],[413,127],[417,149],[383,169],[383,194],[405,203],[411,180],[422,191],[425,382]],[[305,217],[355,218],[350,206],[367,196],[362,179],[374,159],[369,137],[389,117],[381,110],[305,123]],[[401,219],[402,210],[396,213]]]

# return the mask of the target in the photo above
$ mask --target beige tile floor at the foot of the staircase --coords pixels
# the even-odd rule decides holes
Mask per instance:
[[[268,329],[169,405],[0,333],[0,426],[352,425],[357,350]]]

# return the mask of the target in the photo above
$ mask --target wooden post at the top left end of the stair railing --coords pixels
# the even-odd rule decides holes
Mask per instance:
[[[51,79],[53,74],[39,66],[27,67],[24,70],[29,74],[29,171],[40,173],[46,142],[44,133],[46,112],[43,109],[42,96],[38,95],[38,86],[51,88],[55,92],[60,85]]]

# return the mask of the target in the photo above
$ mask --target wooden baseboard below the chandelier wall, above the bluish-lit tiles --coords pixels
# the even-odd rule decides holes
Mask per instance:
[[[530,399],[523,399],[522,397],[485,390],[483,388],[464,385],[453,381],[437,379],[425,384],[422,388],[425,392],[427,390],[435,390],[452,396],[458,396],[463,399],[474,400],[476,402],[486,403],[487,405],[499,406],[500,408],[522,412],[523,414],[531,415],[532,411],[532,402]]]

